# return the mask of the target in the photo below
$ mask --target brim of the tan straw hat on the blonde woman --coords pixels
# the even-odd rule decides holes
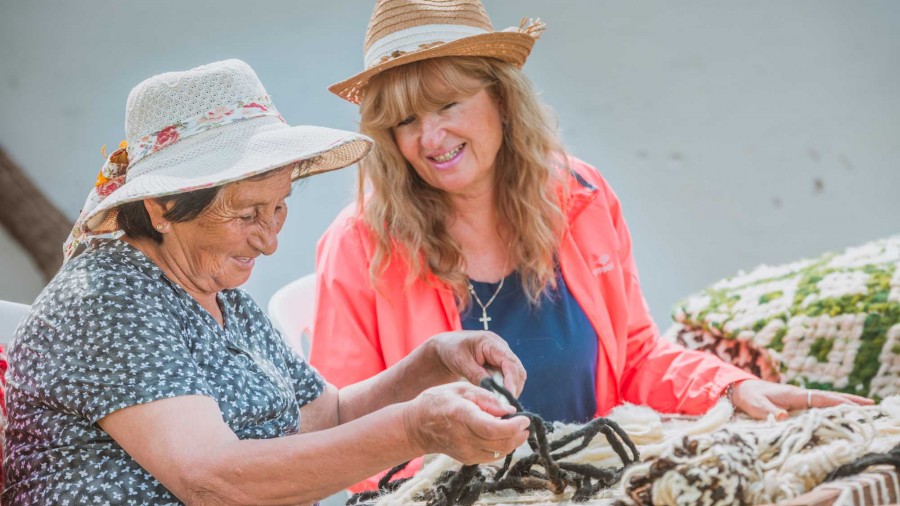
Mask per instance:
[[[463,37],[427,49],[401,54],[396,58],[391,58],[370,67],[349,79],[332,84],[328,87],[328,91],[344,100],[359,104],[362,99],[363,89],[375,75],[407,63],[442,56],[483,56],[497,58],[521,67],[525,64],[525,60],[528,59],[528,55],[531,54],[531,48],[534,47],[535,40],[535,37],[532,35],[515,31],[491,32]]]

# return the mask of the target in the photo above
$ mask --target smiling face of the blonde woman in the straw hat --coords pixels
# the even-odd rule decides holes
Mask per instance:
[[[497,101],[486,89],[410,116],[393,134],[403,157],[431,186],[458,195],[492,189],[503,122]]]

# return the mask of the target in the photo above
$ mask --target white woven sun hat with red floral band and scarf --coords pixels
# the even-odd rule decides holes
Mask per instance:
[[[128,202],[220,186],[293,166],[292,179],[352,165],[368,137],[291,127],[256,73],[240,60],[153,76],[128,96],[126,141],[97,175],[63,247],[65,260],[93,238],[118,237]]]

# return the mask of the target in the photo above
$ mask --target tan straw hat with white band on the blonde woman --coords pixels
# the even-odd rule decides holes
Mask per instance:
[[[521,67],[544,24],[522,19],[495,32],[480,0],[377,0],[366,30],[365,70],[328,89],[358,104],[376,74],[427,58],[486,56]]]

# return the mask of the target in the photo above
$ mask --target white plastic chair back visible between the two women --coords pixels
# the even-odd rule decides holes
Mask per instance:
[[[301,357],[306,357],[316,318],[315,273],[281,287],[269,299],[268,311],[285,341]]]

